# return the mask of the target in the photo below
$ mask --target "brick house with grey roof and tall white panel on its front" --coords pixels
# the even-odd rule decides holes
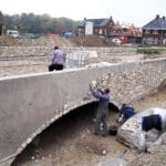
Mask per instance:
[[[112,17],[107,19],[84,19],[77,28],[77,34],[108,37],[113,30],[114,21]]]

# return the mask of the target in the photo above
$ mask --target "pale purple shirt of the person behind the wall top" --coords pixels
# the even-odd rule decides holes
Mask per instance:
[[[61,50],[54,50],[52,55],[52,63],[53,64],[64,64],[65,62],[65,54]]]

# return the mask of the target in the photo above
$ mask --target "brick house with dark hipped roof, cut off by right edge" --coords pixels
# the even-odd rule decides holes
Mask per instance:
[[[144,44],[166,44],[166,19],[158,14],[143,28]]]

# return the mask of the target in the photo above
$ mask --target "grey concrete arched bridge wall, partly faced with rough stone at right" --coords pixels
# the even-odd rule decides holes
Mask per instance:
[[[166,59],[0,79],[0,165],[62,115],[93,102],[91,81],[108,86],[111,102],[120,106],[165,79]]]

